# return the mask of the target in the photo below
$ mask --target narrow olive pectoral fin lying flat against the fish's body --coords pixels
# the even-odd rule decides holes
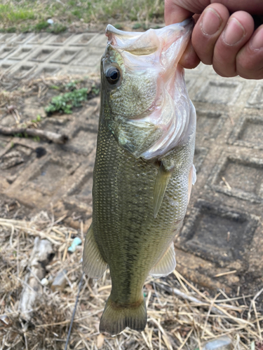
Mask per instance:
[[[172,174],[173,169],[168,170],[164,167],[163,163],[161,163],[154,185],[154,218],[156,218],[161,207],[163,196]]]

